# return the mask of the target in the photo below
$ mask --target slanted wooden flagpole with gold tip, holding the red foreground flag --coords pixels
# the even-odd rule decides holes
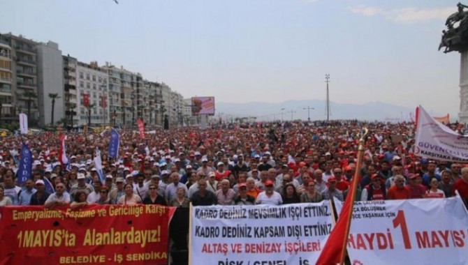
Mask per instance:
[[[359,139],[358,161],[356,162],[356,171],[354,172],[353,181],[351,183],[352,187],[350,187],[351,194],[348,195],[348,196],[351,196],[351,205],[349,207],[349,215],[348,215],[348,220],[346,220],[346,229],[344,232],[342,257],[341,257],[341,262],[340,262],[340,264],[342,265],[344,265],[344,257],[346,255],[346,245],[348,244],[348,239],[349,239],[349,228],[351,227],[351,217],[353,215],[354,201],[356,199],[356,188],[358,187],[358,178],[359,178],[361,160],[363,160],[365,137],[367,136],[367,132],[369,132],[367,128],[364,128],[363,130],[364,130],[363,135],[361,135]]]

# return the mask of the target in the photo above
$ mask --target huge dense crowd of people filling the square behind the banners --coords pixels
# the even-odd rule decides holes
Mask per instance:
[[[358,139],[365,139],[356,169]],[[459,125],[452,125],[459,130]],[[110,132],[45,132],[0,138],[0,206],[69,204],[294,204],[344,200],[358,172],[356,199],[468,198],[468,166],[414,155],[413,123],[249,123],[200,130],[121,129],[119,156]],[[68,162],[59,162],[59,134]],[[17,185],[22,142],[33,155],[31,178]],[[103,179],[94,165],[101,150]],[[52,183],[53,192],[45,184]]]

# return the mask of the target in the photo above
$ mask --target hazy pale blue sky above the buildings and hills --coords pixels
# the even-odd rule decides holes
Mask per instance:
[[[460,54],[438,51],[456,1],[2,0],[0,32],[59,43],[185,98],[326,98],[456,116]]]

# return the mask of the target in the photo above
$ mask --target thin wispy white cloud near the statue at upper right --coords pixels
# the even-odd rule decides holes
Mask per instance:
[[[450,8],[397,8],[383,10],[372,6],[351,6],[351,13],[371,17],[383,15],[386,20],[397,23],[426,22],[429,20],[445,20],[448,15],[455,13],[456,9]]]

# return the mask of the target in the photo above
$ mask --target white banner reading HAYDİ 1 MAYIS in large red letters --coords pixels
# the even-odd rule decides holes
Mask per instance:
[[[468,264],[467,244],[460,197],[406,199],[356,202],[347,250],[351,264]]]

